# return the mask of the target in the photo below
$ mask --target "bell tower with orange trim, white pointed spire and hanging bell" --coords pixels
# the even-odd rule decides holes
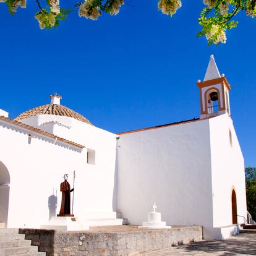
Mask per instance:
[[[225,75],[220,75],[213,55],[210,56],[203,82],[198,80],[197,86],[200,92],[200,119],[225,113],[231,115],[229,106],[229,90],[231,87]]]

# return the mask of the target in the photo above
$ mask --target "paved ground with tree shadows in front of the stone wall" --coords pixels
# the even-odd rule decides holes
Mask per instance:
[[[224,241],[202,241],[137,256],[256,255],[256,233],[242,233]]]

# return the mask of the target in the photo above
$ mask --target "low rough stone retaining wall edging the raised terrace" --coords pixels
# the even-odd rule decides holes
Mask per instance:
[[[136,231],[53,231],[20,229],[46,256],[126,256],[202,240],[202,226]]]

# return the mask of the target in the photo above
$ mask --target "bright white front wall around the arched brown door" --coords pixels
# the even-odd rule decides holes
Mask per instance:
[[[231,132],[231,137],[229,137]],[[213,224],[215,227],[233,224],[232,190],[237,197],[237,215],[246,218],[244,158],[228,114],[210,119],[211,165],[213,182]],[[231,141],[231,140],[232,141]],[[237,216],[238,223],[244,223]]]

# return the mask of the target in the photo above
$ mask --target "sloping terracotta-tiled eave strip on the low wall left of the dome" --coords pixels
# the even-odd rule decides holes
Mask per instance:
[[[5,121],[5,122],[9,122],[10,124],[14,124],[15,126],[19,126],[19,127],[24,128],[24,129],[27,129],[27,130],[31,130],[32,132],[36,132],[37,134],[45,135],[46,137],[52,138],[52,139],[57,140],[59,142],[67,143],[67,144],[72,145],[72,146],[77,147],[77,148],[85,148],[85,146],[83,146],[83,145],[72,142],[70,140],[66,140],[66,139],[61,138],[61,137],[58,137],[58,136],[56,136],[54,134],[51,134],[49,132],[45,132],[45,130],[38,129],[38,128],[35,128],[33,126],[28,126],[28,124],[23,124],[23,122],[19,122],[15,119],[10,119],[8,117],[0,116],[0,120]]]

